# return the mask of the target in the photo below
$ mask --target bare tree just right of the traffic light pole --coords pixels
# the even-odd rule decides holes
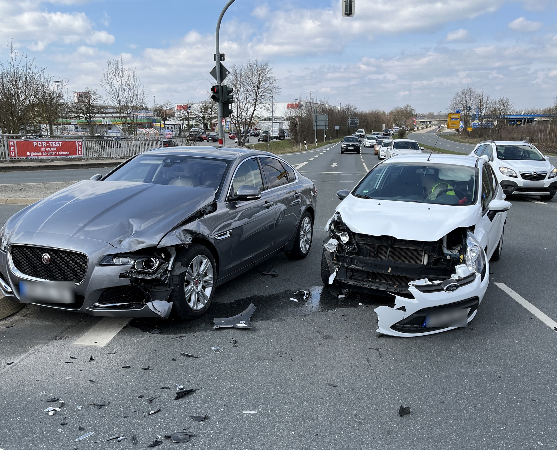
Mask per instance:
[[[228,86],[234,89],[232,113],[238,132],[251,127],[256,114],[271,109],[273,95],[280,94],[277,79],[268,61],[249,60],[245,65],[233,66]],[[238,135],[238,146],[245,146],[247,133]]]

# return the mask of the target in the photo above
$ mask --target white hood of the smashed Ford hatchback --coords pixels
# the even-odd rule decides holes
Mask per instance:
[[[480,205],[451,206],[358,199],[349,195],[336,211],[354,233],[434,242],[481,219]]]

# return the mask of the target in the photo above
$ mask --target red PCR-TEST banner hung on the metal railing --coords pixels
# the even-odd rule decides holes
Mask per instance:
[[[9,139],[10,158],[71,158],[83,156],[83,141],[23,141]]]

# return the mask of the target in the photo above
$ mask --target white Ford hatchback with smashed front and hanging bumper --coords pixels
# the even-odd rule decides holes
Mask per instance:
[[[392,303],[375,308],[383,335],[466,327],[487,291],[488,260],[501,257],[512,206],[490,164],[455,154],[397,156],[337,196],[325,226],[325,286],[388,296]]]

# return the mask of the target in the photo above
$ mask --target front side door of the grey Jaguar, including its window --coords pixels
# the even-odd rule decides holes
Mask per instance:
[[[261,199],[231,200],[243,185],[260,188]],[[257,158],[243,161],[234,173],[226,204],[231,220],[232,273],[271,252],[276,212],[273,196],[272,191],[265,189]]]

